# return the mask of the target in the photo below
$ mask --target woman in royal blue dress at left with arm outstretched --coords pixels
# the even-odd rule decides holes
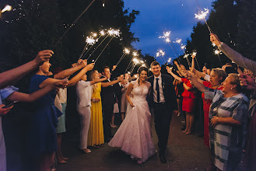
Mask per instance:
[[[69,82],[68,86],[75,85],[82,75],[93,69],[94,64],[85,65],[85,68],[75,75]],[[49,61],[40,65],[39,70],[32,76],[30,81],[30,92],[35,92],[38,89],[44,88],[52,82],[58,82],[58,79],[47,77],[51,64]],[[64,71],[65,72],[65,71]],[[33,163],[30,163],[31,170],[49,170],[54,159],[54,152],[57,149],[56,127],[58,117],[61,116],[61,111],[54,106],[56,89],[48,92],[45,96],[37,99],[33,103],[33,111],[30,120],[30,129],[28,133],[28,141],[26,143],[29,158]]]

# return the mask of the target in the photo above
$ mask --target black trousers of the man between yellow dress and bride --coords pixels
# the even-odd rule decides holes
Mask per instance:
[[[102,108],[103,108],[103,117],[104,117],[104,120],[103,120],[104,139],[105,141],[108,141],[110,138],[112,138],[110,123],[111,123],[111,118],[114,110],[114,104],[103,103]]]

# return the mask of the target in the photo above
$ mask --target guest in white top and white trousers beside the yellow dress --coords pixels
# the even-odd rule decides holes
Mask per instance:
[[[88,141],[88,131],[89,131],[89,123],[91,119],[91,97],[93,94],[92,85],[97,82],[103,82],[107,79],[107,77],[103,79],[94,79],[92,81],[87,81],[87,75],[83,75],[82,79],[76,84],[76,93],[77,93],[77,111],[81,117],[81,131],[80,131],[80,145],[79,148],[85,152],[91,152],[89,148],[87,148]]]

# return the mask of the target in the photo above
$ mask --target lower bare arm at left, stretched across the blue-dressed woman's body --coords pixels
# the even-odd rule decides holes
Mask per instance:
[[[32,92],[31,94],[26,94],[23,92],[13,92],[6,99],[9,101],[20,101],[20,102],[33,102],[40,97],[46,95],[48,92],[51,92],[52,89],[64,88],[68,85],[67,80],[58,80],[58,82],[51,82],[51,84],[45,86],[43,89],[39,89],[36,92]]]

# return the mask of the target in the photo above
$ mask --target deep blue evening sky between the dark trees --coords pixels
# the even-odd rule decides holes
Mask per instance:
[[[212,9],[212,0],[198,0],[203,9]],[[172,41],[181,39],[183,44],[190,38],[193,26],[198,19],[198,5],[195,0],[124,0],[124,9],[139,10],[140,14],[132,23],[132,32],[139,37],[139,42],[133,44],[136,49],[142,49],[142,54],[156,56],[157,50],[166,52],[165,58],[175,58],[175,54],[163,39],[163,31],[171,31]],[[181,46],[175,44],[179,54],[183,54]],[[157,59],[160,61],[160,59]]]

